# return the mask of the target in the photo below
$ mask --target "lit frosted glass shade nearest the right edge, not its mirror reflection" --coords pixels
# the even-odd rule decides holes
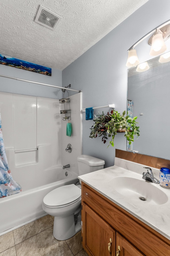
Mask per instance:
[[[151,56],[156,56],[166,51],[166,49],[167,47],[163,40],[162,34],[158,33],[154,35],[154,37],[152,38],[152,45],[151,45],[151,50],[149,54]]]

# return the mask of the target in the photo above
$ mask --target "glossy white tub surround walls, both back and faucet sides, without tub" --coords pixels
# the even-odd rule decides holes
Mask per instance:
[[[81,101],[82,93],[70,96],[72,135],[68,137],[68,121],[63,121],[65,115],[60,114],[60,107],[64,105],[59,104],[58,99],[0,92],[8,165],[24,191],[47,184],[47,170],[57,166],[70,164],[69,170],[78,175],[77,157],[82,154]],[[71,153],[65,151],[69,143],[73,148]],[[38,150],[15,152],[36,148]]]

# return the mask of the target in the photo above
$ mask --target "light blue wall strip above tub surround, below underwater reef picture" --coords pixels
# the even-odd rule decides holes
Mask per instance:
[[[60,87],[62,86],[62,71],[57,69],[52,69],[52,76],[50,77],[48,75],[38,74],[28,70],[0,65],[0,74],[39,83],[45,83]],[[17,81],[14,79],[3,77],[0,77],[0,91],[6,93],[16,93],[54,99],[59,99],[62,97],[61,89],[23,81]]]

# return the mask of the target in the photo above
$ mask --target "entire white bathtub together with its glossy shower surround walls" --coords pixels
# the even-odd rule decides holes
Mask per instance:
[[[81,97],[82,93],[70,96],[73,133],[68,137],[67,121],[62,120],[58,99],[0,92],[8,166],[23,190],[0,198],[0,235],[45,216],[45,195],[57,187],[78,182],[77,156],[82,154]],[[65,151],[68,143],[73,147],[71,154]],[[63,170],[67,164],[70,168]]]

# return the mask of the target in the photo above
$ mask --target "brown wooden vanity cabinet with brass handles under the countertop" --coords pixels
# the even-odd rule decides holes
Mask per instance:
[[[170,255],[169,239],[83,182],[82,243],[89,256]]]

